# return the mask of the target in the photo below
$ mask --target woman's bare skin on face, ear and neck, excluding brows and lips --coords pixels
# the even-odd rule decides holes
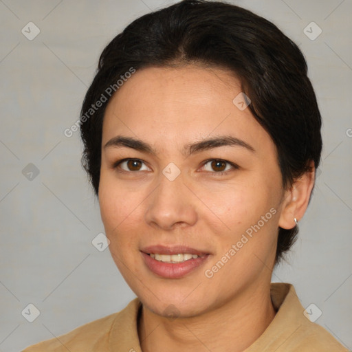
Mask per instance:
[[[278,226],[303,217],[314,171],[289,190],[281,183],[276,146],[250,109],[232,102],[239,80],[218,68],[188,65],[137,71],[113,96],[104,115],[99,186],[100,212],[118,269],[142,301],[138,333],[142,351],[195,348],[239,352],[275,316],[270,299]],[[155,155],[105,144],[135,137]],[[217,146],[184,155],[186,144],[220,135],[254,148]],[[113,167],[124,158],[140,164]],[[208,159],[230,164],[212,166]],[[173,181],[162,170],[173,162]],[[134,166],[134,168],[133,168]],[[223,175],[216,175],[224,171]],[[271,208],[276,214],[212,278],[211,269],[251,225]],[[187,245],[210,254],[182,278],[162,278],[144,264],[148,245]],[[170,305],[176,318],[168,318]]]

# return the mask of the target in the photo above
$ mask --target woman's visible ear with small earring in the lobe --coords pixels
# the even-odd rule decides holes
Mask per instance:
[[[294,181],[289,190],[285,190],[283,206],[278,221],[278,225],[281,228],[287,230],[294,228],[296,226],[294,218],[299,221],[307,210],[316,173],[313,161],[309,163],[309,168],[309,171]]]

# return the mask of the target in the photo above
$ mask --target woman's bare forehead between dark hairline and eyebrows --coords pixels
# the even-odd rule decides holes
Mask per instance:
[[[234,103],[237,96],[241,98],[240,81],[222,69],[142,69],[111,98],[104,115],[102,144],[124,134],[165,148],[230,133],[250,144],[272,146],[250,109],[241,110]]]

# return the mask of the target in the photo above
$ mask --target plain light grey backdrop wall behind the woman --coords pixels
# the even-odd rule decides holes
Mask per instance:
[[[175,2],[0,1],[0,351],[59,336],[134,297],[109,250],[91,244],[104,232],[98,201],[80,167],[78,133],[63,131],[79,117],[104,45]],[[273,281],[293,283],[305,307],[322,310],[316,322],[352,349],[352,1],[232,3],[276,23],[307,58],[324,120],[322,166],[298,242]],[[21,33],[30,21],[41,31],[32,41]],[[304,33],[311,21],[322,29],[314,41]],[[30,163],[40,171],[32,179],[32,166],[22,171]],[[41,312],[32,323],[21,315],[29,303]]]

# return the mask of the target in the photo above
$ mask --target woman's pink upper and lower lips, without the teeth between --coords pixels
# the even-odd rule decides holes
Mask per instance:
[[[210,254],[195,248],[185,246],[166,247],[164,245],[153,245],[141,250],[144,263],[151,272],[163,278],[181,278],[193,272],[197,267],[208,260]],[[197,254],[199,257],[188,259],[182,263],[164,263],[153,259],[149,254]]]

